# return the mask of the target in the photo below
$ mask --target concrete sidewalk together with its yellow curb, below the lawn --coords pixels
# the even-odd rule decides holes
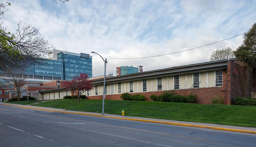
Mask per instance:
[[[70,111],[65,109],[47,108],[47,107],[39,107],[39,106],[31,106],[31,105],[19,105],[19,104],[11,104],[11,103],[4,103],[4,102],[0,102],[0,105],[8,105],[8,106],[15,106],[20,108],[37,109],[37,110],[45,110],[45,111],[60,112],[60,113],[71,113],[71,114],[80,114],[80,115],[87,115],[87,116],[125,119],[130,121],[164,123],[169,125],[200,127],[200,128],[214,129],[214,130],[224,130],[224,131],[256,134],[256,128],[254,127],[239,127],[239,126],[216,125],[216,124],[210,124],[210,123],[183,122],[183,121],[172,121],[172,120],[165,120],[165,119],[130,117],[130,116],[122,116],[121,113],[120,115],[105,114],[104,116],[102,116],[101,113]]]

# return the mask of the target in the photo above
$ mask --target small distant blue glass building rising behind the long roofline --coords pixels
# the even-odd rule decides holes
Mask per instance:
[[[117,67],[117,76],[122,76],[122,75],[128,75],[128,74],[134,74],[134,73],[138,73],[138,72],[142,72],[142,67],[143,66],[137,66],[137,67],[133,67],[133,66],[121,66],[121,67]]]

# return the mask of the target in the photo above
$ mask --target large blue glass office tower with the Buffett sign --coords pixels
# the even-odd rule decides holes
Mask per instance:
[[[49,80],[72,80],[74,76],[86,73],[93,76],[92,56],[84,53],[71,53],[53,49],[48,55],[49,60],[44,65],[33,65],[25,70],[24,78],[30,81],[45,82]],[[5,75],[0,71],[1,75]],[[6,83],[0,79],[0,83]]]

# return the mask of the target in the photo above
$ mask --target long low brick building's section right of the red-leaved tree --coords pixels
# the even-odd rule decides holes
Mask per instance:
[[[232,104],[235,97],[251,97],[256,87],[255,70],[241,74],[239,62],[228,59],[108,77],[105,96],[106,100],[121,100],[121,94],[128,92],[145,95],[150,100],[153,94],[174,90],[178,95],[197,95],[199,104],[211,104],[211,98],[218,96],[222,96],[224,104]],[[93,90],[85,95],[89,99],[102,99],[103,79],[93,80],[93,85]]]

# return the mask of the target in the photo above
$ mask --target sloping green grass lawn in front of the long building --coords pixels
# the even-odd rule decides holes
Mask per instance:
[[[57,99],[32,105],[102,113],[102,100]],[[256,127],[256,106],[105,100],[104,113],[121,115],[122,109],[126,116]]]

